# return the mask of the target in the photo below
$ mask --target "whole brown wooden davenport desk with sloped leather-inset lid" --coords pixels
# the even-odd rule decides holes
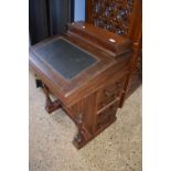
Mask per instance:
[[[116,120],[130,68],[131,42],[87,23],[30,49],[30,67],[43,83],[45,109],[63,108],[78,128],[79,149]],[[50,94],[56,96],[52,101]],[[57,131],[57,130],[56,130]]]

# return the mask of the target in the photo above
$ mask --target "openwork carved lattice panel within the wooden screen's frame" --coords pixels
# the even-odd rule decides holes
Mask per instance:
[[[93,22],[119,35],[127,35],[135,0],[93,0]]]

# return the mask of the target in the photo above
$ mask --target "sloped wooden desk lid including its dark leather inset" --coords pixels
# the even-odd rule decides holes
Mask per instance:
[[[43,83],[60,98],[67,98],[71,103],[77,95],[89,93],[86,87],[95,88],[110,79],[104,76],[105,71],[113,76],[111,70],[120,67],[117,65],[119,58],[124,60],[115,58],[84,40],[64,34],[31,46],[29,61],[30,67]]]

